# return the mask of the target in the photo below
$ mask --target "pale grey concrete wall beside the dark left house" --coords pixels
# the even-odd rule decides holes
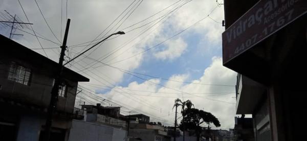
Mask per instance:
[[[71,141],[124,141],[126,130],[73,120],[69,140]]]

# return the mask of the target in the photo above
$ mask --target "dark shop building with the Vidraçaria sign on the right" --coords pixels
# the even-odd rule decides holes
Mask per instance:
[[[236,114],[255,140],[299,140],[303,130],[307,1],[224,0],[223,65],[237,77]]]

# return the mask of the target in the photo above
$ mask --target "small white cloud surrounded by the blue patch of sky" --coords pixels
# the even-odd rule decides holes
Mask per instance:
[[[187,43],[182,38],[176,40],[168,40],[166,43],[166,49],[160,52],[156,52],[153,55],[162,60],[173,60],[180,57],[187,48]]]

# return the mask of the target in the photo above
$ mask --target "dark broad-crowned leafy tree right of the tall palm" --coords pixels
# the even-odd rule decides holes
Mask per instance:
[[[181,120],[179,128],[181,130],[183,130],[183,128],[195,130],[198,141],[200,140],[200,134],[202,132],[202,127],[200,126],[202,123],[213,123],[215,127],[221,126],[220,121],[218,121],[218,119],[210,112],[195,108],[187,108],[184,112],[184,115],[185,118]]]

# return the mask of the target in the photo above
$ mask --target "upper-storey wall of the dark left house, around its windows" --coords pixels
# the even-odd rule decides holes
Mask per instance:
[[[12,61],[22,64],[24,67],[31,68],[30,85],[27,86],[8,80],[8,70]],[[49,72],[49,70],[40,68],[40,66],[33,66],[29,62],[14,58],[0,59],[0,70],[0,85],[2,85],[0,97],[42,107],[47,107],[49,105],[54,79],[54,74]],[[66,81],[70,85],[67,87],[67,97],[59,97],[57,109],[72,113],[74,110],[78,82]]]

